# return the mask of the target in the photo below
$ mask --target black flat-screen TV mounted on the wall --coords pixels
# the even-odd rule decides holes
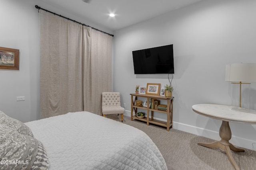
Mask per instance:
[[[134,74],[174,74],[173,45],[132,51]]]

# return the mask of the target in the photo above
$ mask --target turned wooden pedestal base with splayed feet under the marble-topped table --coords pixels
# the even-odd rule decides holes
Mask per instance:
[[[234,166],[234,168],[236,170],[240,170],[238,164],[236,164],[232,156],[231,150],[233,150],[234,152],[244,152],[244,149],[238,149],[234,147],[234,145],[229,143],[229,140],[231,139],[231,130],[230,130],[228,121],[222,121],[219,134],[221,138],[220,141],[216,141],[213,143],[198,143],[198,145],[208,147],[208,148],[220,148],[221,150],[226,152],[228,159],[231,162],[231,164]]]

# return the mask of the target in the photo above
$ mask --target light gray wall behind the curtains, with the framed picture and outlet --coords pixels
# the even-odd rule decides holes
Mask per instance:
[[[102,31],[113,31],[42,0],[1,0],[0,4],[0,47],[20,50],[20,70],[0,70],[0,110],[20,121],[33,121],[39,119],[40,109],[40,35],[35,5]],[[25,96],[25,101],[17,102],[17,96]]]

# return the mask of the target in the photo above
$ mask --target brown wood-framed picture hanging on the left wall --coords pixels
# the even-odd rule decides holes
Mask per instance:
[[[0,47],[0,69],[19,70],[20,50]]]

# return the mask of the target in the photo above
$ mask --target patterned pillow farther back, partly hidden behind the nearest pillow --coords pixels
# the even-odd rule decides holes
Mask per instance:
[[[0,124],[8,126],[20,134],[34,137],[31,129],[27,125],[17,119],[9,117],[2,111],[0,111]]]

